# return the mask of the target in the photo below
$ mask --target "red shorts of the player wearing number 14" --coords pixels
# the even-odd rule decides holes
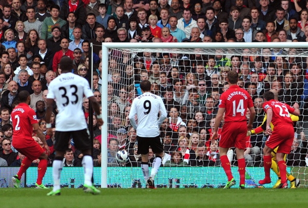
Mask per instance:
[[[219,147],[244,150],[246,148],[247,122],[226,122],[221,131]]]

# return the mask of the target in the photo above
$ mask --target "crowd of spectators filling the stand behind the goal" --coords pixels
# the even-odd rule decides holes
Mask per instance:
[[[0,1],[0,164],[19,165],[23,155],[11,146],[10,113],[22,90],[31,94],[30,106],[46,131],[45,107],[49,83],[59,74],[60,59],[73,60],[73,73],[89,78],[89,45],[94,69],[93,93],[101,102],[101,43],[142,42],[287,42],[308,41],[308,2],[288,0],[1,0]],[[257,116],[254,128],[264,118],[262,94],[278,92],[279,101],[300,103],[295,140],[287,164],[305,166],[307,157],[308,72],[306,57],[294,56],[297,49],[260,49],[230,55],[109,51],[108,68],[108,164],[138,167],[136,131],[128,114],[132,100],[141,94],[139,82],[148,79],[152,92],[164,99],[168,118],[161,128],[164,143],[162,165],[219,166],[219,140],[210,144],[219,97],[228,89],[230,70],[240,74],[238,85],[251,94]],[[250,51],[251,52],[251,51]],[[253,55],[252,55],[253,54]],[[85,118],[89,100],[83,99]],[[52,124],[54,127],[56,106]],[[247,117],[249,112],[247,113]],[[101,131],[93,115],[94,164],[101,164]],[[68,118],[73,119],[73,118]],[[154,118],[153,118],[154,119]],[[47,136],[48,137],[48,136]],[[38,143],[39,138],[33,136]],[[47,138],[53,159],[53,140]],[[248,166],[262,165],[266,135],[247,137]],[[73,138],[65,153],[65,166],[80,166],[83,155],[75,150]],[[119,164],[115,154],[129,153]],[[149,150],[150,158],[152,156]],[[234,161],[234,150],[228,151]],[[151,160],[149,162],[151,162]],[[33,165],[37,164],[33,161]]]

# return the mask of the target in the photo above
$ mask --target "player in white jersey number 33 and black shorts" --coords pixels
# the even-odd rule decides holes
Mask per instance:
[[[53,167],[53,190],[47,196],[60,195],[60,174],[62,171],[62,160],[68,148],[70,136],[73,137],[75,147],[83,153],[82,165],[85,170],[84,191],[99,194],[100,190],[92,184],[93,159],[91,156],[91,142],[84,112],[82,110],[83,96],[91,102],[97,114],[99,125],[103,124],[100,113],[100,105],[96,101],[90,89],[88,81],[76,74],[71,73],[73,62],[68,56],[63,56],[60,61],[61,75],[53,79],[48,86],[46,127],[47,134],[52,135],[50,117],[52,113],[53,100],[59,113],[55,121],[55,157]]]

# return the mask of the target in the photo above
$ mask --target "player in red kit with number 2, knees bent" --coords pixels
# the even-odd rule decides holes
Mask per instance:
[[[42,184],[43,177],[47,169],[47,161],[49,154],[49,147],[45,140],[45,135],[42,129],[38,126],[38,121],[36,120],[36,114],[33,109],[29,107],[30,105],[30,94],[28,91],[21,91],[18,94],[18,98],[21,103],[16,106],[12,111],[12,122],[13,122],[13,137],[12,144],[13,147],[23,155],[25,159],[22,161],[22,165],[17,175],[12,177],[12,181],[16,188],[20,187],[22,175],[31,165],[31,162],[35,159],[40,159],[38,163],[38,175],[35,183],[38,189],[47,189],[45,185]],[[36,135],[44,143],[43,149],[40,144],[38,144],[32,138],[33,129]],[[47,154],[45,153],[47,152]]]

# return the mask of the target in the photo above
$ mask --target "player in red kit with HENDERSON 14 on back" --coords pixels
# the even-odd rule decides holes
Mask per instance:
[[[222,93],[219,100],[219,109],[216,116],[215,128],[211,142],[213,143],[218,136],[218,127],[221,123],[223,114],[225,113],[224,125],[221,132],[221,139],[219,141],[219,155],[221,166],[223,167],[228,182],[224,189],[229,189],[235,184],[233,178],[230,162],[227,157],[229,148],[236,148],[236,155],[238,159],[238,167],[240,174],[240,188],[245,189],[245,159],[244,150],[246,148],[246,133],[247,128],[250,130],[253,127],[253,121],[256,115],[254,103],[248,92],[237,85],[239,75],[236,71],[230,71],[227,79],[230,88]],[[248,124],[246,119],[247,108],[251,112]]]

